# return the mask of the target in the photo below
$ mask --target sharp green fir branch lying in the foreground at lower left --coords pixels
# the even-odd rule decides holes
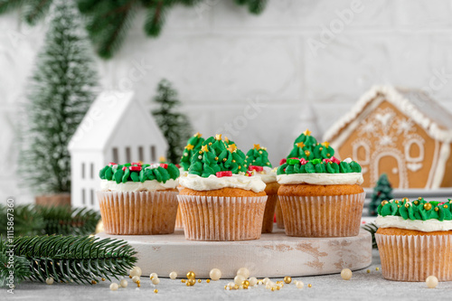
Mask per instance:
[[[124,240],[89,236],[0,239],[0,286],[8,284],[10,249],[14,249],[15,285],[25,278],[44,282],[52,277],[57,282],[78,284],[95,284],[102,278],[111,281],[110,277],[127,275],[137,262],[137,252]]]

